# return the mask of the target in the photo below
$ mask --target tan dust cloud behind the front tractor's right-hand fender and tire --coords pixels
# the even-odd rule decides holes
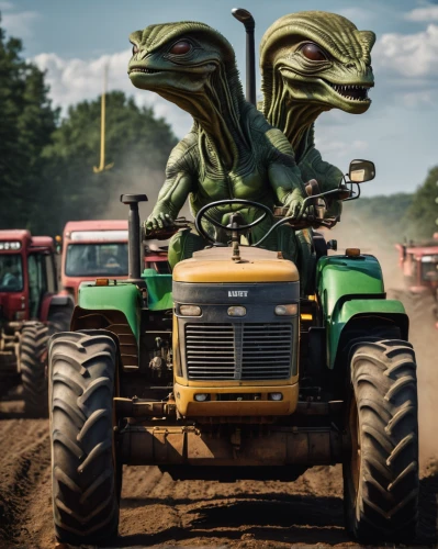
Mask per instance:
[[[403,235],[389,232],[381,221],[357,213],[353,203],[345,204],[341,222],[326,232],[326,239],[329,238],[338,240],[338,253],[356,247],[363,254],[374,255],[382,267],[388,299],[401,300],[409,316],[409,341],[417,359],[419,448],[424,469],[438,460],[438,330],[431,311],[433,300],[413,295],[404,285],[395,249],[395,244],[403,242]]]

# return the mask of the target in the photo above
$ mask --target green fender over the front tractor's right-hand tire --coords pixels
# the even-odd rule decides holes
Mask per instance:
[[[382,269],[371,255],[327,256],[317,264],[316,284],[326,328],[327,366],[334,368],[339,340],[360,317],[391,323],[407,339],[408,318],[400,301],[386,300]],[[380,318],[380,321],[378,320]]]

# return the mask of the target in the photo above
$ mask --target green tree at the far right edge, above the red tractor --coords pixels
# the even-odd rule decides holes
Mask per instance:
[[[431,168],[425,182],[417,189],[407,212],[414,236],[430,238],[438,231],[438,166]]]

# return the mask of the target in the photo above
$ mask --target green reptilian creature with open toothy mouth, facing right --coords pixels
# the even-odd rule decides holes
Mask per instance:
[[[342,172],[315,148],[314,122],[330,109],[368,110],[374,41],[371,31],[324,11],[284,15],[261,40],[261,111],[289,138],[303,180],[316,179],[323,191],[336,188]]]

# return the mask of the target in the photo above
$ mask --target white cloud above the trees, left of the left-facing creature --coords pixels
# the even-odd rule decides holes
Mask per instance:
[[[153,107],[157,116],[165,117],[178,137],[186,135],[191,126],[191,116],[156,93],[134,88],[126,74],[130,57],[131,51],[126,49],[91,60],[65,59],[53,53],[40,54],[31,60],[46,71],[50,98],[64,113],[69,105],[96,99],[102,93],[103,70],[108,66],[109,91],[121,90],[134,96],[138,105]]]

